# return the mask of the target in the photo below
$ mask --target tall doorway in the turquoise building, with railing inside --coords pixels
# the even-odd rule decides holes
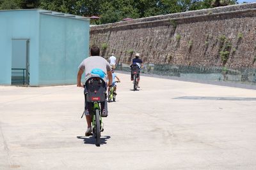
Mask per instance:
[[[29,39],[12,39],[12,85],[29,85]]]

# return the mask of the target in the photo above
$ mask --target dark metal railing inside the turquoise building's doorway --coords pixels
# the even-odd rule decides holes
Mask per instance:
[[[19,68],[12,69],[12,84],[15,84],[15,85],[26,84],[26,69],[19,69]]]

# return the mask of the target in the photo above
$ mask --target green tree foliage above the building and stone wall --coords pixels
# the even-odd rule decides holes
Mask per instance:
[[[237,0],[0,0],[0,10],[42,8],[100,17],[98,24],[236,4]]]

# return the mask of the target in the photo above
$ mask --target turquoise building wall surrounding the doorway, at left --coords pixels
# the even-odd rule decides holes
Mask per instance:
[[[0,11],[0,85],[11,84],[12,39],[30,39],[30,85],[38,85],[38,18],[36,10]]]

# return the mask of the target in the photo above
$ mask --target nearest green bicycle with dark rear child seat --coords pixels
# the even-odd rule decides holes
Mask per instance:
[[[91,77],[84,88],[88,90],[85,99],[92,104],[92,135],[96,139],[96,146],[100,146],[101,132],[104,131],[100,103],[106,101],[106,83],[100,77]]]

